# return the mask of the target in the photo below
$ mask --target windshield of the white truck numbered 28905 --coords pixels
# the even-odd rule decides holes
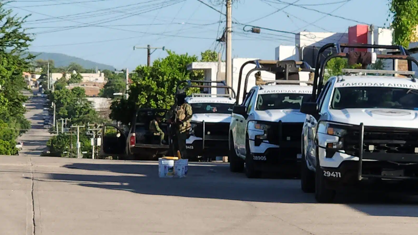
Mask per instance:
[[[256,110],[301,109],[301,104],[308,101],[311,94],[276,93],[258,95]]]

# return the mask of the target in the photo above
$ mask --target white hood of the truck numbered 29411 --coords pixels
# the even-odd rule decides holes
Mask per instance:
[[[418,111],[405,109],[343,109],[329,110],[327,120],[366,126],[418,128]]]

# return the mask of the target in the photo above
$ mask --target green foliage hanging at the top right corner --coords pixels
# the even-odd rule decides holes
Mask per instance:
[[[393,42],[396,45],[409,47],[411,41],[418,41],[416,27],[418,25],[417,0],[389,0],[389,9],[393,14]]]

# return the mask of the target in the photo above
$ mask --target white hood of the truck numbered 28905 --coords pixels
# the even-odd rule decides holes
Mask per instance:
[[[303,123],[306,119],[306,115],[299,110],[256,110],[255,120],[278,122],[281,120],[284,123]]]

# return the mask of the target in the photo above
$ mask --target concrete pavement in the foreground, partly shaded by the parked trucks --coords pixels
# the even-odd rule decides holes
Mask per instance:
[[[246,179],[227,163],[158,178],[153,162],[0,156],[1,235],[411,235],[406,199],[314,203],[294,179]],[[377,204],[377,202],[379,204]],[[360,203],[359,203],[360,202]],[[389,203],[388,203],[389,202]],[[357,203],[357,204],[350,204]]]

